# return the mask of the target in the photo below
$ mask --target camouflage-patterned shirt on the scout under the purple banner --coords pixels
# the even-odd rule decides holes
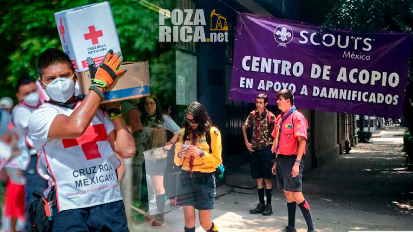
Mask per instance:
[[[271,121],[269,123],[267,114],[271,114]],[[269,132],[273,131],[274,120],[274,114],[267,109],[265,109],[261,115],[259,115],[258,110],[249,113],[244,126],[247,128],[252,127],[252,147],[262,148],[273,144],[273,138],[270,136]]]

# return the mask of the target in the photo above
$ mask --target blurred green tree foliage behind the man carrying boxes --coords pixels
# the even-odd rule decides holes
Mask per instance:
[[[0,85],[4,89],[0,97],[14,96],[11,88],[21,76],[37,78],[36,61],[43,50],[53,47],[61,49],[54,13],[73,7],[87,5],[93,0],[29,0],[20,2],[1,1],[0,7]],[[168,61],[170,47],[159,47],[159,13],[152,7],[144,7],[142,0],[110,0],[123,58],[125,61],[150,60],[151,76],[164,84],[173,78]],[[163,0],[151,1],[152,4],[171,9]],[[158,54],[159,55],[158,57]],[[168,62],[171,63],[171,62]],[[172,84],[157,84],[152,80],[155,93],[173,95]],[[169,87],[169,89],[167,88]],[[165,92],[166,91],[166,92]],[[169,91],[169,92],[168,92]]]

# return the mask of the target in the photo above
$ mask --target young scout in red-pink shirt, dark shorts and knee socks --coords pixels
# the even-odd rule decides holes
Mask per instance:
[[[291,90],[281,90],[277,99],[278,109],[282,114],[275,119],[271,134],[274,137],[271,152],[277,154],[271,171],[277,175],[278,188],[284,189],[287,198],[288,226],[282,231],[296,232],[295,210],[298,204],[306,220],[308,232],[313,232],[315,230],[310,206],[302,193],[302,157],[306,153],[308,123],[295,108]]]

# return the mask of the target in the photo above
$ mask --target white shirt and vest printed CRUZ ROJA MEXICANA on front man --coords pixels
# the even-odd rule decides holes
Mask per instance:
[[[43,104],[30,117],[26,134],[27,143],[39,152],[37,171],[49,180],[44,194],[47,196],[55,186],[59,212],[122,199],[116,176],[120,161],[108,140],[114,125],[105,112],[97,111],[81,137],[63,140],[47,137],[55,116],[70,116],[73,111]]]

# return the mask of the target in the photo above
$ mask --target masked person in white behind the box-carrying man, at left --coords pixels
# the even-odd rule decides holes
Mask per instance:
[[[12,111],[13,129],[18,136],[17,147],[19,148],[19,165],[26,178],[25,200],[26,212],[31,202],[36,198],[32,195],[34,189],[43,191],[47,187],[47,181],[41,178],[36,172],[37,152],[30,149],[24,135],[28,131],[28,119],[31,114],[40,106],[39,95],[36,90],[35,82],[32,78],[22,77],[17,81],[16,97],[19,99]]]

